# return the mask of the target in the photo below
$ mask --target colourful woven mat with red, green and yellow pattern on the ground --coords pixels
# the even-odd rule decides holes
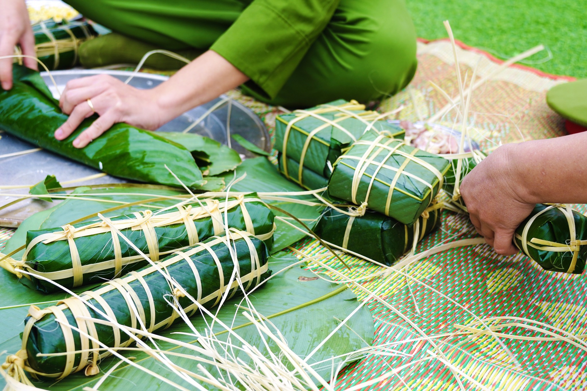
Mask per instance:
[[[450,44],[420,42],[418,53],[410,87],[383,101],[380,111],[403,104],[399,118],[430,118],[447,103],[430,81],[457,96]],[[500,64],[464,45],[458,59],[467,84],[475,66],[484,77]],[[567,80],[521,66],[498,73],[474,91],[471,134],[485,149],[564,135],[563,121],[546,106],[545,94]],[[273,134],[277,108],[238,91],[230,96],[254,110]],[[450,111],[440,123],[452,125],[456,115]],[[466,217],[444,212],[441,229],[417,251],[473,233]],[[0,247],[11,234],[0,230]],[[587,389],[587,352],[577,338],[587,338],[586,276],[546,272],[520,254],[498,256],[484,245],[438,253],[401,273],[343,256],[349,271],[315,240],[299,242],[295,249],[313,257],[312,270],[354,280],[352,289],[375,319],[376,349],[341,373],[336,389],[367,380],[370,385],[363,389]],[[488,335],[487,327],[497,334]]]

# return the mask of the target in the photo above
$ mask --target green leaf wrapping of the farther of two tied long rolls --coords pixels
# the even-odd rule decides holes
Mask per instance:
[[[247,213],[252,221],[252,232],[249,233],[263,239],[268,248],[271,249],[273,243],[272,231],[274,229],[274,215],[271,210],[269,210],[265,204],[257,198],[257,195],[252,193],[243,198],[242,202],[235,198],[229,198],[228,200],[220,199],[218,200],[218,206],[221,208],[222,212],[224,211],[223,205],[225,201],[230,202],[231,205],[234,204],[232,208],[227,210],[227,219],[225,220],[226,225],[238,230],[247,230],[247,223],[244,219],[244,213]],[[184,207],[188,208],[188,205],[184,205]],[[200,209],[197,203],[191,205],[191,208],[194,211]],[[211,206],[208,206],[208,208],[211,209]],[[243,210],[243,208],[245,208],[245,210]],[[161,213],[166,212],[177,212],[177,208],[163,211]],[[195,232],[197,232],[196,243],[208,239],[211,236],[224,233],[222,222],[218,223],[214,221],[216,218],[224,220],[224,213],[219,214],[220,217],[212,217],[210,213],[207,213],[193,220]],[[153,216],[157,216],[157,211],[153,212]],[[125,220],[136,218],[136,215],[130,214],[111,217],[110,220],[116,223],[124,223]],[[95,226],[96,223],[99,224],[101,222],[102,220],[93,220],[90,222],[77,223],[73,225],[73,227],[79,229],[80,227],[88,225]],[[136,225],[136,227],[140,227],[140,225]],[[149,252],[149,241],[147,240],[146,232],[142,228],[136,229],[136,227],[128,227],[120,230],[124,236],[128,237],[129,240],[133,242],[135,246],[139,247],[141,251],[149,254],[151,259],[158,260],[161,256],[155,258],[154,255],[151,255]],[[92,266],[91,270],[83,272],[83,277],[80,278],[78,283],[76,283],[72,269],[72,250],[66,237],[49,243],[45,242],[48,236],[62,232],[64,232],[64,229],[60,226],[29,230],[26,234],[28,253],[26,254],[25,267],[27,269],[30,268],[31,270],[29,271],[50,278],[66,288],[101,283],[104,280],[112,280],[115,278],[117,273],[113,266],[114,259],[116,259],[116,249],[118,249],[118,247],[120,247],[120,256],[122,259],[126,260],[122,265],[120,273],[129,273],[130,271],[137,270],[148,264],[147,261],[126,242],[119,240],[119,244],[114,244],[112,233],[109,231],[108,227],[106,227],[106,230],[104,230],[103,233],[90,234],[87,236],[79,236],[80,232],[77,232],[75,239],[73,239],[73,244],[77,256],[79,257],[80,266]],[[83,233],[83,231],[81,233]],[[184,222],[156,226],[153,228],[153,233],[157,253],[159,254],[170,254],[173,251],[183,250],[190,246],[190,237]],[[41,241],[39,242],[39,240]],[[31,242],[33,241],[36,244],[31,246]],[[67,276],[56,277],[57,274],[67,274]],[[25,278],[21,278],[21,281],[28,283]],[[35,289],[43,292],[52,292],[59,289],[48,281],[40,280],[36,277],[32,277],[32,284]]]

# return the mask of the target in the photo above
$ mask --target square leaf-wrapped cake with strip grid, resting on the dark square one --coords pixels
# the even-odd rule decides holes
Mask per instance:
[[[449,166],[403,140],[367,131],[337,159],[328,193],[412,225],[436,197]]]

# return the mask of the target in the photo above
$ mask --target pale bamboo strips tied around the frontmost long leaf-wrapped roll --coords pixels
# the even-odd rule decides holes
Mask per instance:
[[[141,324],[146,325],[146,313],[143,309],[143,304],[141,304],[136,292],[134,292],[134,290],[129,285],[129,283],[131,283],[132,281],[139,281],[141,286],[146,291],[147,297],[149,298],[149,310],[150,310],[149,317],[150,317],[151,322],[150,322],[149,328],[147,328],[147,331],[151,332],[151,331],[155,331],[157,329],[167,328],[177,318],[177,314],[176,314],[176,312],[172,312],[171,316],[166,319],[156,319],[157,312],[155,311],[154,298],[153,298],[153,295],[151,294],[151,291],[149,290],[148,285],[146,284],[146,282],[144,280],[144,277],[147,276],[147,274],[157,273],[157,272],[161,272],[161,273],[167,274],[167,276],[169,276],[169,273],[167,271],[168,266],[171,266],[177,262],[187,261],[187,259],[190,258],[190,256],[207,251],[208,253],[210,253],[212,258],[215,260],[215,263],[217,264],[217,267],[218,267],[218,274],[221,277],[218,290],[207,295],[206,297],[201,297],[202,284],[201,284],[200,276],[197,273],[197,269],[195,268],[195,266],[193,266],[193,261],[190,260],[190,262],[188,262],[188,264],[190,264],[190,267],[192,268],[192,270],[195,270],[194,271],[194,278],[195,278],[195,281],[197,283],[197,288],[198,288],[196,301],[199,304],[206,304],[206,303],[214,300],[213,305],[217,305],[222,297],[222,294],[224,294],[225,291],[238,287],[238,281],[237,280],[232,281],[230,287],[224,282],[224,278],[222,277],[222,276],[224,276],[224,273],[222,270],[222,265],[220,263],[220,260],[218,260],[218,256],[215,254],[214,250],[212,250],[211,247],[215,246],[217,244],[224,244],[225,246],[227,246],[230,249],[231,248],[230,241],[237,240],[237,239],[242,239],[247,243],[249,253],[251,256],[251,273],[248,273],[245,276],[241,276],[239,274],[239,268],[237,266],[237,276],[239,276],[239,279],[241,280],[241,283],[244,285],[245,290],[248,290],[252,284],[258,285],[261,282],[262,274],[266,273],[266,271],[269,270],[269,264],[267,262],[265,262],[265,264],[261,264],[261,260],[259,259],[259,255],[257,253],[257,250],[255,250],[254,243],[252,243],[252,241],[251,241],[251,237],[253,237],[253,235],[248,232],[230,229],[230,233],[228,234],[228,236],[225,236],[225,237],[214,236],[214,238],[215,238],[214,240],[211,240],[208,243],[198,243],[193,248],[191,248],[187,251],[177,251],[176,256],[170,257],[169,259],[167,259],[163,262],[157,261],[155,263],[155,266],[143,268],[143,270],[141,270],[141,271],[133,271],[122,278],[116,278],[115,280],[108,281],[107,283],[104,283],[102,288],[99,288],[96,291],[86,291],[85,293],[80,295],[81,300],[76,297],[66,298],[65,300],[58,302],[57,305],[53,305],[48,308],[43,308],[42,310],[39,309],[38,307],[36,307],[35,305],[32,305],[29,308],[30,318],[26,322],[25,330],[22,335],[21,350],[16,352],[14,355],[8,356],[8,358],[6,359],[6,362],[2,365],[2,368],[4,368],[6,370],[6,372],[8,372],[8,375],[11,376],[11,378],[14,378],[18,382],[21,382],[21,383],[24,383],[27,385],[31,385],[31,386],[32,386],[32,383],[26,377],[25,372],[31,373],[31,375],[35,378],[39,375],[39,376],[45,376],[48,378],[56,378],[56,380],[63,379],[66,376],[70,375],[70,373],[79,372],[82,369],[85,369],[85,374],[87,376],[96,375],[100,371],[100,369],[98,368],[97,362],[100,359],[102,359],[106,356],[109,356],[110,353],[104,352],[102,354],[99,354],[100,347],[97,344],[97,342],[91,341],[90,338],[87,338],[87,336],[83,334],[85,332],[85,333],[89,334],[90,336],[92,336],[93,338],[99,339],[98,335],[97,335],[95,323],[101,321],[101,319],[93,319],[93,318],[87,319],[87,318],[91,318],[90,312],[87,309],[87,307],[88,307],[87,300],[90,300],[90,299],[95,300],[103,308],[103,310],[104,310],[103,312],[105,312],[106,315],[108,315],[108,317],[115,320],[116,315],[114,314],[114,311],[112,310],[112,308],[110,308],[110,306],[107,304],[107,302],[101,297],[101,295],[104,293],[107,293],[109,291],[112,291],[112,290],[119,290],[120,293],[122,294],[122,296],[124,297],[124,300],[126,301],[129,313],[131,315],[131,329],[140,328],[140,327],[137,327],[137,322],[141,322]],[[230,240],[228,240],[228,239],[230,239]],[[171,276],[169,276],[169,277],[171,277]],[[174,280],[172,278],[169,278],[167,281],[174,281]],[[170,290],[174,296],[183,297],[186,295],[186,292],[185,292],[184,288],[181,287],[181,285],[179,285],[177,283],[173,283],[176,286],[171,286],[171,284],[172,283],[170,283]],[[236,289],[234,291],[232,291],[232,294],[229,296],[229,298],[231,298],[236,292],[237,292]],[[74,367],[75,355],[76,355],[76,353],[75,353],[76,352],[75,339],[73,337],[73,330],[67,326],[67,324],[69,324],[69,322],[65,316],[65,313],[63,312],[68,309],[72,312],[73,316],[76,318],[77,327],[82,331],[82,333],[78,333],[78,334],[80,336],[80,342],[81,342],[83,352],[81,353],[82,356],[80,358],[79,365],[77,365],[75,367]],[[198,305],[194,303],[194,304],[189,305],[188,307],[183,308],[183,310],[186,313],[188,311],[192,311],[190,315],[193,315],[198,310]],[[136,313],[138,313],[139,318],[136,317],[136,315],[135,315]],[[66,349],[67,349],[68,354],[66,355],[65,370],[63,370],[63,372],[59,372],[59,373],[38,372],[26,364],[27,359],[28,359],[28,355],[26,353],[26,344],[28,342],[28,338],[29,338],[29,335],[31,334],[32,328],[35,325],[36,321],[38,321],[43,316],[48,315],[48,314],[53,314],[56,319],[59,319],[59,321],[64,323],[64,324],[61,324],[60,327],[63,331],[63,336],[66,341]],[[130,345],[132,342],[134,342],[134,340],[131,338],[127,339],[126,341],[123,341],[121,338],[122,334],[120,333],[120,328],[113,327],[113,333],[114,333],[113,349],[124,348],[124,347]],[[132,334],[136,335],[137,338],[141,338],[141,335],[137,335],[135,333],[132,333]],[[92,344],[91,351],[90,351],[90,342]],[[90,352],[92,353],[91,357],[90,357]]]

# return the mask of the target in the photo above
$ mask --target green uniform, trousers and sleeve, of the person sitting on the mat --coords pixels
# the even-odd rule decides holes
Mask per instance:
[[[212,49],[251,79],[245,93],[275,105],[377,100],[416,71],[403,0],[67,1],[118,33],[87,42],[100,50],[80,48],[82,63],[104,50],[136,62],[155,48],[191,57]]]

